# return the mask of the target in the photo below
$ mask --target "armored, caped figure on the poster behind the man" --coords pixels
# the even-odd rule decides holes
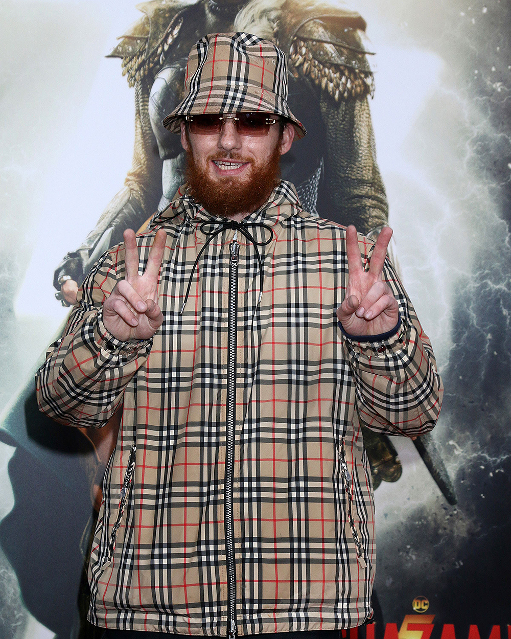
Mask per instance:
[[[358,13],[332,4],[296,0],[154,0],[139,8],[144,14],[142,19],[110,54],[112,58],[122,58],[123,73],[130,86],[135,87],[133,165],[124,189],[112,199],[95,229],[57,267],[54,286],[59,299],[73,304],[77,286],[103,251],[121,242],[126,228],[139,229],[149,216],[166,208],[184,181],[179,136],[168,132],[162,121],[181,101],[188,52],[206,33],[248,31],[273,40],[286,52],[289,105],[307,124],[308,135],[294,152],[283,157],[283,178],[297,186],[304,208],[310,212],[320,212],[322,217],[341,224],[356,224],[366,235],[378,233],[387,222],[388,206],[370,121],[368,97],[373,93],[374,82],[367,61],[369,52],[362,44],[365,22]],[[0,525],[0,542],[15,567],[27,608],[62,637],[70,636],[70,613],[67,617],[64,612],[49,614],[52,606],[42,597],[39,587],[40,581],[56,579],[58,571],[52,571],[51,578],[46,575],[33,580],[33,569],[27,570],[25,548],[31,538],[20,534],[20,527],[25,526],[27,512],[36,521],[43,512],[49,516],[53,512],[49,507],[38,510],[47,490],[43,475],[49,473],[48,485],[54,486],[59,499],[66,504],[71,499],[75,504],[73,522],[69,522],[73,523],[72,530],[62,521],[55,520],[54,525],[68,541],[79,538],[85,529],[86,555],[90,509],[77,502],[77,495],[82,494],[84,483],[91,484],[91,497],[97,508],[102,474],[118,427],[119,413],[102,429],[83,432],[91,440],[87,442],[78,436],[79,431],[70,432],[51,422],[36,410],[33,377],[2,416],[0,440],[18,448],[10,463],[15,507]],[[43,433],[44,437],[50,433],[51,442],[45,439],[37,445]],[[76,441],[69,442],[71,436]],[[364,442],[374,488],[382,479],[397,481],[401,465],[392,442],[366,429]],[[452,503],[454,491],[434,441],[423,436],[415,443]],[[33,468],[34,463],[40,464],[35,490],[27,482],[31,476],[27,469]],[[63,484],[61,492],[55,488],[55,477]],[[45,520],[40,529],[46,528],[52,530]],[[54,545],[65,548],[61,537],[54,532],[49,534]],[[45,541],[42,547],[47,545]],[[70,557],[58,556],[67,562],[66,567],[73,564],[79,574],[80,557],[75,553],[75,544],[70,541],[68,546]],[[51,544],[48,548],[52,548]],[[40,566],[43,572],[46,566],[37,553],[29,565]],[[71,598],[76,596],[72,588],[67,590]],[[51,589],[49,596],[50,593]],[[66,601],[64,596],[61,599]],[[82,605],[86,608],[83,601]],[[69,602],[66,606],[68,610],[73,608]],[[79,621],[74,623],[80,629],[75,626],[72,636],[85,636]]]

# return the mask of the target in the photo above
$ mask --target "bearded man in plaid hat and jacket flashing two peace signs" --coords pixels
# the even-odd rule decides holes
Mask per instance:
[[[61,422],[100,427],[123,404],[89,619],[105,637],[333,639],[372,616],[360,427],[428,431],[441,381],[385,258],[392,231],[374,245],[311,217],[278,180],[305,135],[284,54],[206,36],[186,89],[164,124],[187,185],[95,266],[38,373]]]

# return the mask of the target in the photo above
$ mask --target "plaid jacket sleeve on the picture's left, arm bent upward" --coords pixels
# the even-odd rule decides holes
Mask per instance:
[[[122,342],[103,324],[103,302],[118,277],[112,254],[105,254],[80,289],[63,337],[36,373],[39,408],[61,424],[104,426],[148,357],[152,339]]]

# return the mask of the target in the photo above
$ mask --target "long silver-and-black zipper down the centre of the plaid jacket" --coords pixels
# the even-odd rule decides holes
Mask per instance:
[[[238,325],[238,231],[229,246],[229,323],[227,341],[227,450],[225,452],[225,553],[227,559],[227,636],[234,639],[236,627],[236,567],[234,566],[234,435],[236,433],[236,342]]]

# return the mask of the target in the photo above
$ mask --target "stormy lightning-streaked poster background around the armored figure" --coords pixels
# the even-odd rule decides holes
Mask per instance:
[[[392,438],[402,475],[376,489],[381,612],[358,632],[511,638],[511,7],[351,8],[376,52],[370,109],[393,250],[445,381],[434,442],[457,500],[413,442]],[[68,313],[54,269],[131,166],[133,89],[105,55],[140,15],[128,0],[0,4],[2,639],[92,636],[83,564],[100,455],[29,396]]]

